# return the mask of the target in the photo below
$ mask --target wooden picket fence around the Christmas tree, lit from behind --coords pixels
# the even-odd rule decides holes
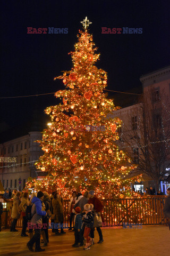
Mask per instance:
[[[165,196],[150,196],[126,199],[102,199],[104,205],[104,226],[122,226],[123,223],[141,223],[142,225],[163,225],[166,219],[163,214]],[[6,204],[2,214],[2,226],[10,227],[13,200]],[[64,227],[69,227],[69,200],[64,200]],[[22,218],[16,227],[22,227]]]

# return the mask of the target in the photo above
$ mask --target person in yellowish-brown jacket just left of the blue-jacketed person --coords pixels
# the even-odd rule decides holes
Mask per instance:
[[[26,215],[25,215],[25,210],[26,210],[28,204],[29,204],[28,192],[24,192],[23,196],[21,197],[21,203],[20,203],[21,216],[23,218],[21,236],[28,236],[26,234],[28,220],[27,220]]]

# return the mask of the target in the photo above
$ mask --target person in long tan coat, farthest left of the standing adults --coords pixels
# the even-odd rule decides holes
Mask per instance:
[[[18,230],[15,229],[15,226],[16,226],[16,222],[20,218],[20,214],[21,214],[20,195],[21,195],[21,192],[18,191],[16,193],[16,195],[14,196],[14,198],[13,198],[13,207],[12,207],[12,213],[11,213],[11,218],[13,219],[13,221],[11,223],[11,228],[10,228],[11,232],[17,232],[18,231]]]

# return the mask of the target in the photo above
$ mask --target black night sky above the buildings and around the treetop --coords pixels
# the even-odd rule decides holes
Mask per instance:
[[[126,91],[139,77],[170,63],[169,1],[1,1],[0,97],[50,93],[64,89],[53,81],[72,67],[68,55],[87,16],[100,52],[97,67],[108,73],[106,89]],[[27,27],[68,28],[68,34],[27,34]],[[142,28],[142,34],[101,34],[101,27]],[[55,105],[53,94],[0,99],[0,121],[22,124],[38,108]],[[121,103],[120,103],[121,105]]]

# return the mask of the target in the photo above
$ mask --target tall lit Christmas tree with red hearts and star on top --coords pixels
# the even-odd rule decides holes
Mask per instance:
[[[71,52],[71,71],[54,78],[65,86],[55,93],[61,103],[45,110],[52,123],[39,141],[44,155],[36,167],[48,175],[38,183],[47,190],[55,184],[63,191],[94,189],[103,198],[123,198],[131,195],[132,179],[127,177],[134,166],[116,145],[121,120],[108,116],[118,107],[106,98],[107,73],[95,66],[100,54],[87,18],[82,23],[84,30]]]

